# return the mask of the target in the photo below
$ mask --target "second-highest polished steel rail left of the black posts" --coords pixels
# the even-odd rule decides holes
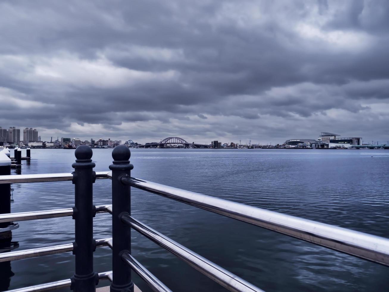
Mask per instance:
[[[96,206],[96,213],[108,212],[109,207],[111,207],[111,205]],[[11,222],[11,221],[56,218],[56,217],[65,217],[65,216],[72,216],[72,215],[73,215],[72,208],[53,209],[53,210],[34,211],[34,212],[6,213],[6,214],[0,214],[0,223]]]

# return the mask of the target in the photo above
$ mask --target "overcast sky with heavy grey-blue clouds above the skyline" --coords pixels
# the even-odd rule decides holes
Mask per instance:
[[[389,1],[1,1],[0,126],[389,140]]]

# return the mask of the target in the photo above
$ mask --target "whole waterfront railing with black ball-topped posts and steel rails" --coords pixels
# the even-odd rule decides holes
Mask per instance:
[[[75,255],[74,276],[65,280],[26,287],[23,291],[70,287],[75,292],[94,292],[98,281],[109,280],[111,292],[132,292],[134,284],[131,271],[137,273],[152,290],[171,291],[131,255],[130,228],[230,291],[263,291],[133,218],[130,213],[131,188],[133,187],[389,267],[389,239],[387,238],[133,178],[131,177],[133,165],[129,160],[131,153],[124,145],[117,146],[112,151],[114,161],[109,167],[110,171],[94,172],[95,164],[91,160],[92,154],[88,146],[77,147],[72,173],[9,175],[7,169],[7,174],[0,175],[0,185],[7,185],[7,189],[2,190],[1,195],[4,192],[8,197],[8,186],[12,183],[72,181],[75,185],[75,206],[73,208],[0,214],[0,223],[63,216],[72,216],[75,220],[74,243],[0,253],[0,262],[71,251]],[[2,159],[7,161],[5,164],[9,166],[9,160],[7,160],[9,158],[2,155]],[[96,179],[111,179],[112,204],[93,205],[93,184]],[[98,213],[112,215],[111,238],[93,238],[93,217]],[[96,273],[93,270],[93,252],[99,246],[111,248],[112,271]],[[69,273],[72,272],[69,271]],[[260,286],[261,283],[258,285]],[[11,291],[18,291],[18,289]]]

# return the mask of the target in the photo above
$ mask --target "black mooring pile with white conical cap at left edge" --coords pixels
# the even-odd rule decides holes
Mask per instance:
[[[0,152],[0,175],[11,174],[11,159]],[[0,214],[11,213],[11,184],[0,184]],[[0,228],[6,228],[11,222],[0,223]],[[7,234],[6,234],[7,233]],[[3,238],[4,237],[4,238]],[[0,240],[11,237],[11,231],[0,233]]]

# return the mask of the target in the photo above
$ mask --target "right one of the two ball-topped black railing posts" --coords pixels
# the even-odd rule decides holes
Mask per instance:
[[[131,280],[131,268],[121,255],[124,252],[131,254],[130,227],[121,220],[124,214],[131,213],[130,186],[124,185],[121,179],[130,176],[133,165],[130,164],[131,152],[127,146],[119,145],[112,151],[112,276],[111,292],[134,291]]]

